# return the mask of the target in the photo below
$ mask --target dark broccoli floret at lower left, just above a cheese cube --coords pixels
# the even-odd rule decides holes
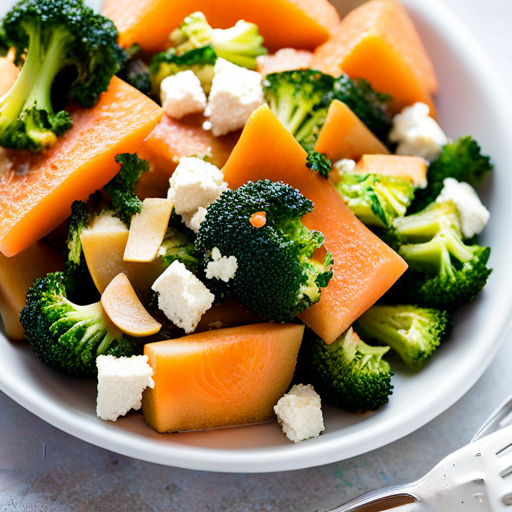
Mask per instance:
[[[74,377],[92,377],[99,355],[129,357],[139,352],[100,302],[78,306],[68,300],[65,282],[63,272],[38,279],[20,314],[27,340],[44,363]]]

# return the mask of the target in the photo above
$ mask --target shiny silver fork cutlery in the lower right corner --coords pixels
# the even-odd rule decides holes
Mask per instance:
[[[512,512],[512,397],[416,482],[368,492],[326,512]]]

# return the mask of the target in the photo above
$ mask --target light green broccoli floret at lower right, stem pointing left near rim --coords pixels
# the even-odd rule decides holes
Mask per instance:
[[[372,306],[355,324],[364,339],[387,345],[413,370],[423,368],[449,334],[452,318],[445,311],[413,305]]]

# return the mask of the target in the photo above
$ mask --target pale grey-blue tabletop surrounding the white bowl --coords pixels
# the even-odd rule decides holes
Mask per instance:
[[[445,3],[512,90],[511,0]],[[469,442],[512,392],[511,366],[512,333],[477,384],[413,434],[335,464],[256,475],[189,471],[117,455],[59,431],[0,392],[0,511],[325,510],[370,489],[419,478]]]

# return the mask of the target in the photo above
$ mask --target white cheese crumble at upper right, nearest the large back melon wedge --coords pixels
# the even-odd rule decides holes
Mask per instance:
[[[405,107],[393,118],[393,128],[389,133],[391,142],[398,142],[397,155],[420,156],[435,160],[448,137],[434,119],[429,117],[430,109],[425,103],[415,103]]]

